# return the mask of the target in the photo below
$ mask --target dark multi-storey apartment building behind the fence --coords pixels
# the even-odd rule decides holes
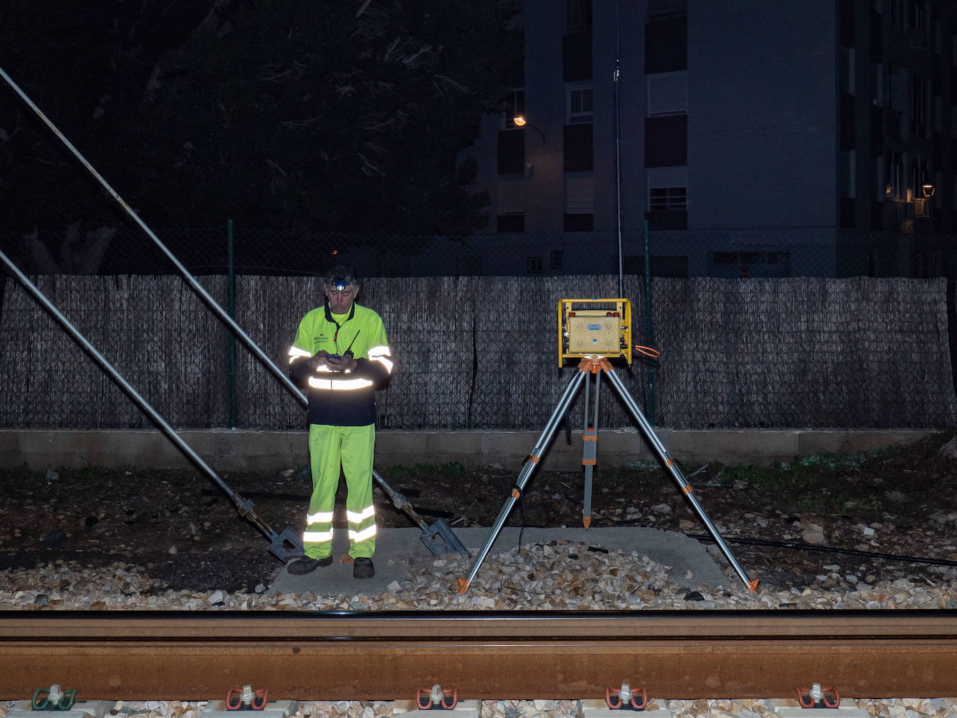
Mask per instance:
[[[647,220],[658,275],[882,276],[957,231],[949,0],[524,0],[516,22],[515,92],[461,153],[491,197],[479,260],[633,272]]]

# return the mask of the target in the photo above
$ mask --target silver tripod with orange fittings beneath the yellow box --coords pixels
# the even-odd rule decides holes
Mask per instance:
[[[488,551],[492,548],[492,544],[499,535],[499,531],[501,531],[501,527],[508,518],[508,514],[511,512],[515,502],[518,501],[522,496],[525,483],[528,482],[528,479],[531,477],[532,472],[538,465],[538,462],[545,452],[545,449],[547,449],[548,444],[551,443],[551,439],[555,435],[555,430],[558,428],[562,419],[568,412],[568,407],[571,405],[575,394],[578,393],[582,382],[585,382],[586,390],[586,420],[584,436],[582,437],[584,439],[582,463],[585,465],[585,505],[583,506],[582,516],[585,527],[588,528],[590,526],[592,470],[597,462],[598,456],[598,398],[601,372],[604,372],[609,381],[612,382],[612,387],[614,387],[614,389],[618,392],[621,400],[625,402],[625,405],[634,416],[634,420],[638,422],[638,425],[641,427],[641,430],[644,432],[645,436],[649,441],[651,441],[651,444],[655,448],[658,457],[664,463],[665,468],[668,469],[675,481],[678,482],[681,493],[684,494],[684,496],[690,502],[692,508],[695,509],[695,512],[698,514],[698,518],[701,519],[701,523],[704,524],[704,526],[708,529],[708,532],[722,550],[724,557],[734,568],[734,571],[741,577],[741,580],[745,582],[747,590],[752,594],[757,593],[758,579],[755,578],[752,580],[748,578],[745,570],[738,565],[738,561],[735,559],[734,554],[731,553],[731,550],[727,548],[727,545],[724,543],[724,540],[721,537],[721,534],[718,532],[718,529],[714,527],[707,515],[704,513],[704,509],[702,509],[701,505],[698,503],[698,500],[695,499],[692,493],[691,485],[688,483],[687,479],[684,478],[684,475],[681,474],[678,463],[668,454],[664,444],[662,444],[660,439],[657,438],[657,435],[652,429],[651,424],[648,423],[648,420],[641,413],[641,410],[638,409],[638,405],[634,403],[634,399],[632,398],[631,394],[628,393],[628,389],[622,383],[621,379],[618,378],[617,374],[614,373],[611,362],[609,362],[609,360],[604,356],[597,355],[585,356],[582,358],[581,363],[578,365],[578,373],[576,373],[571,379],[571,382],[568,384],[568,388],[559,399],[558,406],[555,407],[555,411],[548,419],[548,422],[545,425],[545,431],[543,431],[542,436],[539,437],[538,443],[535,444],[535,448],[532,449],[532,453],[529,454],[527,459],[525,459],[522,472],[519,474],[518,481],[515,482],[515,486],[512,487],[512,493],[505,501],[505,505],[501,507],[501,511],[499,512],[498,517],[496,517],[495,525],[492,527],[492,532],[489,534],[488,539],[485,541],[485,545],[481,548],[481,550],[479,550],[479,554],[472,563],[472,568],[469,571],[468,577],[458,579],[458,593],[464,594],[469,590],[469,586],[472,584],[473,579],[475,579],[476,573],[479,572],[479,566],[481,566],[481,562],[485,559],[485,556],[488,555]],[[588,426],[590,375],[594,376],[595,385],[594,418],[592,420],[591,429],[589,429]]]

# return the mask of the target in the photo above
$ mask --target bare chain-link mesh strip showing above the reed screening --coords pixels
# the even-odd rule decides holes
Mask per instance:
[[[193,276],[322,276],[353,264],[366,277],[643,274],[720,279],[957,276],[957,236],[789,230],[642,230],[470,236],[346,235],[234,226],[155,230]],[[28,275],[156,275],[174,264],[141,228],[77,228],[7,236]]]

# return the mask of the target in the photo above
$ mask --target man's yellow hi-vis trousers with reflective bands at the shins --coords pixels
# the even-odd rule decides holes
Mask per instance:
[[[349,555],[371,558],[375,552],[375,508],[372,503],[372,459],[375,424],[328,426],[309,424],[309,465],[312,496],[302,533],[302,547],[310,558],[332,553],[332,511],[340,474],[345,476],[345,518]]]

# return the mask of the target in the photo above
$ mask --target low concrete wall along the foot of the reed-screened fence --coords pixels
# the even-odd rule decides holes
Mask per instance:
[[[870,451],[909,444],[933,430],[875,431],[801,429],[656,429],[668,453],[685,462],[768,464],[798,456]],[[260,471],[304,465],[308,461],[306,433],[212,429],[179,433],[189,447],[216,471]],[[380,470],[401,464],[447,463],[520,469],[541,432],[501,431],[380,431],[375,465]],[[575,471],[581,468],[581,432],[571,441],[559,432],[546,447],[541,468]],[[634,429],[600,430],[599,465],[621,466],[655,458],[646,438]],[[26,464],[32,469],[84,466],[176,468],[191,465],[186,456],[159,431],[0,431],[0,467]]]

